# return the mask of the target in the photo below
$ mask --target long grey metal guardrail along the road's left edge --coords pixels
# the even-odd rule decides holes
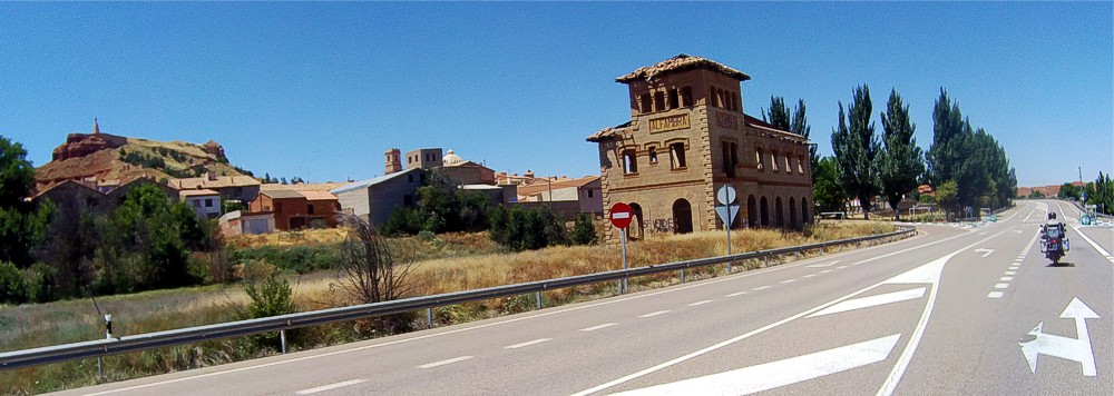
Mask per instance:
[[[916,231],[915,227],[899,226],[898,231],[871,235],[866,237],[832,240],[819,244],[802,245],[770,250],[749,251],[743,254],[651,265],[631,269],[619,269],[597,274],[578,275],[565,278],[531,281],[517,285],[497,286],[475,290],[448,293],[433,296],[413,297],[391,301],[373,303],[351,307],[330,308],[309,313],[297,313],[283,316],[228,321],[207,326],[124,336],[113,339],[99,339],[84,343],[63,344],[40,348],[0,353],[0,370],[14,369],[41,364],[59,363],[72,359],[101,357],[128,352],[153,349],[190,344],[204,340],[221,339],[236,336],[247,336],[268,331],[326,324],[340,320],[351,320],[373,316],[391,315],[419,309],[482,300],[498,297],[509,297],[528,293],[541,293],[580,285],[619,280],[628,277],[645,276],[657,273],[684,270],[729,261],[769,258],[772,256],[800,254],[803,251],[824,249],[832,246],[859,244],[869,240],[896,237]],[[539,299],[540,306],[540,299]]]

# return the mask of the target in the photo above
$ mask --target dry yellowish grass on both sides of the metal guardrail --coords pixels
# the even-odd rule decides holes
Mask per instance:
[[[741,230],[732,232],[733,251],[749,251],[850,238],[893,230],[882,222],[842,221],[820,225],[809,232]],[[343,239],[336,230],[304,232],[300,236],[268,236],[263,240],[234,240],[244,247],[271,244],[280,246],[334,245]],[[420,263],[410,281],[417,295],[440,294],[571,275],[592,274],[622,267],[619,248],[605,246],[550,247],[537,251],[506,253],[486,234],[440,235],[432,240],[403,238],[392,240],[397,249],[412,249]],[[648,238],[631,242],[632,267],[726,254],[722,232],[695,232]],[[778,263],[771,263],[775,265]],[[753,268],[760,263],[745,264]],[[690,279],[715,276],[714,268],[694,270]],[[632,279],[632,289],[659,287],[675,283],[676,274],[659,274]],[[295,303],[301,310],[346,305],[334,293],[339,278],[332,271],[291,276]],[[566,304],[609,296],[615,284],[597,284],[546,293],[547,305]],[[438,325],[461,323],[530,309],[532,297],[511,297],[476,301],[436,309]],[[136,295],[98,298],[100,309],[114,316],[116,335],[135,335],[223,323],[244,318],[248,301],[240,285],[217,285]],[[414,327],[424,319],[414,320]],[[104,337],[102,321],[89,299],[41,305],[0,306],[0,352],[90,340]],[[340,323],[303,329],[294,349],[314,348],[369,337],[360,324]],[[312,340],[312,341],[310,341]],[[96,359],[43,365],[20,370],[0,372],[0,394],[58,390],[121,380],[139,376],[184,370],[274,354],[250,339],[226,339],[105,358],[106,377],[97,378]]]

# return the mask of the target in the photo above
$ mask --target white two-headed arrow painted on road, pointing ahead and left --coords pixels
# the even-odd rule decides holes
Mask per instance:
[[[1017,343],[1022,346],[1025,360],[1029,363],[1029,370],[1037,372],[1037,358],[1043,354],[1078,362],[1083,366],[1083,376],[1085,377],[1098,375],[1098,370],[1095,369],[1095,353],[1091,348],[1091,333],[1087,331],[1087,319],[1098,319],[1098,314],[1095,314],[1091,307],[1076,297],[1072,299],[1067,308],[1064,308],[1064,313],[1059,314],[1059,317],[1075,319],[1077,338],[1044,333],[1044,321],[1037,324],[1037,327],[1029,331],[1030,336],[1037,338],[1027,343]]]

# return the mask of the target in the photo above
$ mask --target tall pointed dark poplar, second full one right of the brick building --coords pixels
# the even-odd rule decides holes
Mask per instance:
[[[909,120],[909,106],[897,90],[890,90],[882,117],[882,150],[876,157],[878,186],[898,220],[898,204],[917,188],[917,177],[925,172],[924,155],[912,137],[917,126]]]

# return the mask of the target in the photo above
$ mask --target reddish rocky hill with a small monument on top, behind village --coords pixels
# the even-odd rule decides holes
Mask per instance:
[[[65,180],[87,180],[97,185],[126,182],[147,176],[155,179],[188,178],[215,172],[221,176],[252,176],[228,164],[224,148],[209,140],[204,145],[155,141],[101,133],[70,133],[55,148],[53,159],[35,170],[36,188],[43,190]]]

